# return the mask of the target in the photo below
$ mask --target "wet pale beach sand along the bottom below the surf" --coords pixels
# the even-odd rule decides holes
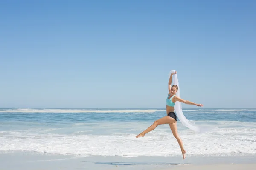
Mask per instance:
[[[256,156],[72,156],[0,153],[0,170],[256,170]]]

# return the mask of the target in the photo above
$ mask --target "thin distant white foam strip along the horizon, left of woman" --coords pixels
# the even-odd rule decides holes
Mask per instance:
[[[155,109],[124,109],[124,110],[96,110],[96,109],[32,109],[17,108],[3,109],[0,113],[154,113]]]

